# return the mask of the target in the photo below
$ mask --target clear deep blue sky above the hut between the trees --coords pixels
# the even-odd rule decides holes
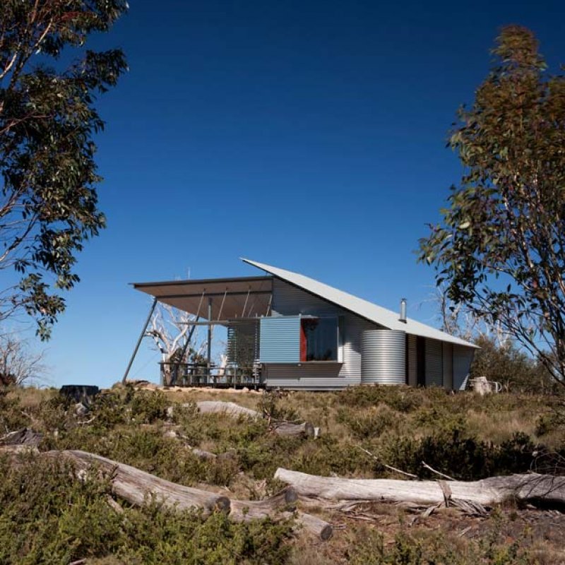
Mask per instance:
[[[456,109],[501,25],[534,30],[557,71],[564,22],[562,0],[132,0],[95,42],[130,71],[100,99],[108,228],[79,257],[50,382],[121,378],[150,304],[127,283],[260,274],[239,256],[432,321],[414,250],[460,176]],[[145,348],[132,376],[156,362]]]

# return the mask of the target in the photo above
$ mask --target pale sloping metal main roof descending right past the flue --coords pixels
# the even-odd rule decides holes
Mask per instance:
[[[265,263],[251,261],[246,258],[242,258],[242,261],[249,263],[249,265],[256,268],[265,270],[267,273],[270,273],[276,278],[280,278],[291,285],[302,288],[302,290],[306,290],[312,295],[316,295],[328,302],[337,304],[339,307],[342,307],[353,314],[357,314],[357,316],[361,316],[371,322],[378,323],[379,326],[384,326],[390,330],[402,330],[406,333],[411,333],[412,335],[421,335],[424,338],[446,341],[456,345],[477,347],[477,345],[468,341],[461,340],[444,331],[432,328],[432,326],[427,326],[425,323],[421,323],[410,318],[408,318],[405,323],[401,322],[398,319],[398,312],[377,306],[372,302],[368,302],[367,300],[350,295],[347,292],[343,292],[343,290],[338,290],[337,288],[320,283],[318,280],[314,280],[313,278],[300,275],[299,273],[293,273],[290,270],[266,265]]]

